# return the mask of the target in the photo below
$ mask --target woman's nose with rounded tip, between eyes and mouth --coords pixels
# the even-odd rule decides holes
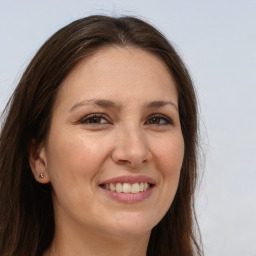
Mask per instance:
[[[152,157],[147,138],[139,128],[119,131],[115,145],[112,160],[119,165],[138,168]]]

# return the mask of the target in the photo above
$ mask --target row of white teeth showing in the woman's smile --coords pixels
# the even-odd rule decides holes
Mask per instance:
[[[149,188],[149,184],[147,182],[140,182],[140,183],[110,183],[110,184],[105,184],[103,186],[105,189],[110,190],[110,191],[116,191],[118,193],[139,193],[146,191]]]

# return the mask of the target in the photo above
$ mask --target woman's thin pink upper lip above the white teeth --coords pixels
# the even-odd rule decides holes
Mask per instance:
[[[145,175],[136,175],[136,176],[133,176],[133,175],[124,175],[124,176],[118,176],[118,177],[114,177],[114,178],[111,178],[111,179],[108,179],[108,180],[105,180],[103,181],[100,185],[103,185],[103,184],[110,184],[110,183],[113,183],[113,184],[116,184],[116,183],[139,183],[139,182],[146,182],[146,183],[149,183],[149,184],[152,184],[152,185],[155,185],[156,182],[150,178],[150,177],[147,177]]]

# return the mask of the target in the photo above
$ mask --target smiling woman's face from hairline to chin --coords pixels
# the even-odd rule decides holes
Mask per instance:
[[[57,228],[149,235],[173,201],[184,156],[166,65],[120,47],[81,61],[61,85],[39,156]]]

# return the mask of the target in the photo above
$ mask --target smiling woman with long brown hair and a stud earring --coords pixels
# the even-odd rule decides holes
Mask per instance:
[[[202,255],[197,129],[189,74],[152,26],[62,28],[6,108],[0,254]]]

